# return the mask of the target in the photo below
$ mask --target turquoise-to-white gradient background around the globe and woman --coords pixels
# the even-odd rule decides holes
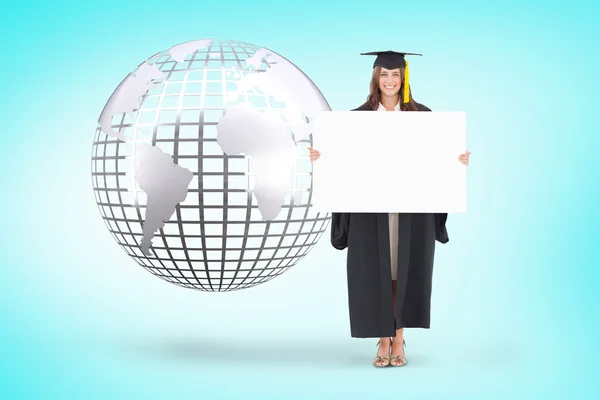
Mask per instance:
[[[526,4],[524,4],[526,3]],[[4,2],[0,397],[592,399],[600,345],[600,7],[592,1]],[[138,267],[95,204],[97,119],[126,74],[188,40],[275,50],[336,110],[372,58],[466,111],[468,212],[436,250],[432,327],[404,368],[350,338],[327,236],[258,287],[195,292]],[[595,373],[596,372],[596,373]]]

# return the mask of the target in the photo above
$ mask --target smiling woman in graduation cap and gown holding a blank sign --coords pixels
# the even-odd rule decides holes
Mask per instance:
[[[353,111],[431,111],[412,98],[406,54],[363,53],[377,57],[367,101]],[[311,162],[320,157],[309,150]],[[460,154],[458,161],[468,165],[470,154]],[[331,243],[348,248],[351,335],[379,338],[376,367],[405,365],[404,328],[429,328],[435,241],[448,242],[447,216],[332,214]]]

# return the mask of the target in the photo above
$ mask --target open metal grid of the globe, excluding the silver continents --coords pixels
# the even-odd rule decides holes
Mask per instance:
[[[169,50],[157,53],[150,60],[162,78],[142,93],[132,112],[111,116],[112,129],[128,142],[105,133],[100,124],[96,129],[92,186],[110,234],[138,265],[175,285],[202,291],[256,286],[296,265],[327,230],[329,213],[310,208],[312,165],[306,147],[312,136],[294,139],[285,101],[256,88],[241,96],[253,109],[280,114],[297,150],[291,190],[275,218],[263,220],[253,195],[252,158],[227,155],[217,142],[217,125],[233,104],[228,93],[245,76],[271,67],[267,58],[261,58],[260,67],[245,62],[260,49],[246,42],[211,40],[179,60]],[[322,97],[316,86],[314,90]],[[141,243],[149,194],[135,176],[142,144],[160,148],[172,156],[173,164],[193,173],[185,200],[153,232],[146,253]]]

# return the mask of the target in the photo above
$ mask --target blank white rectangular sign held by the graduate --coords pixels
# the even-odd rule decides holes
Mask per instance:
[[[464,112],[323,111],[313,148],[316,211],[466,212]]]

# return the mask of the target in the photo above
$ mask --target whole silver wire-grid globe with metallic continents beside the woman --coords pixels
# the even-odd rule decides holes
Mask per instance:
[[[118,245],[175,285],[232,291],[302,260],[330,215],[311,210],[311,121],[330,107],[276,52],[175,45],[138,65],[102,110],[92,186]]]

